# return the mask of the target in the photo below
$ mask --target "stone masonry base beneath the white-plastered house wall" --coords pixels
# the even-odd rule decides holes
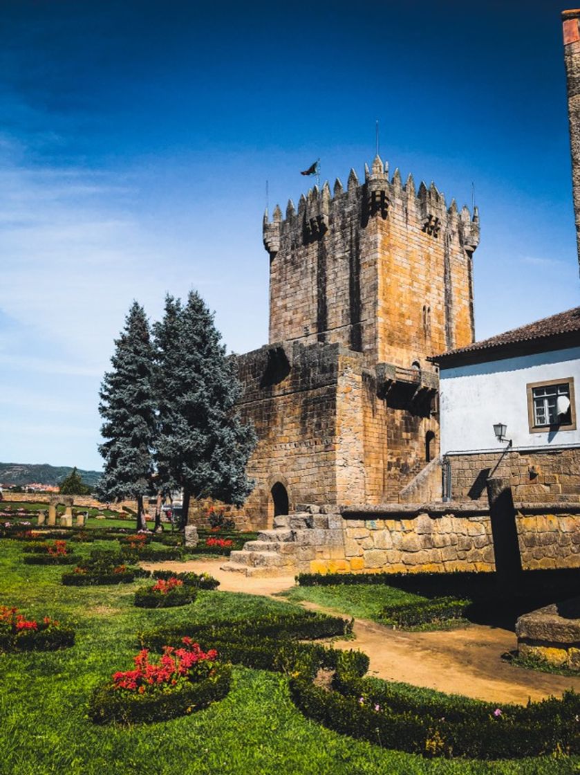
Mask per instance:
[[[501,460],[500,460],[501,458]],[[501,450],[473,455],[449,455],[451,500],[487,503],[486,479],[509,477],[514,501],[580,503],[580,449]],[[499,463],[499,465],[497,465]]]

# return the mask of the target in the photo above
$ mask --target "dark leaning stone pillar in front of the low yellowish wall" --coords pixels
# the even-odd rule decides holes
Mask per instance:
[[[506,582],[521,573],[522,560],[517,539],[516,509],[510,480],[507,477],[491,477],[487,480],[489,516],[492,523],[493,554],[496,572]]]

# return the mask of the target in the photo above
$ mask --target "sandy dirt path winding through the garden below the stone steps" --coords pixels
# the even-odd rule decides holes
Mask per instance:
[[[187,563],[143,563],[149,569],[206,572],[220,581],[220,590],[272,596],[293,587],[292,576],[245,577],[220,569],[223,560],[192,560]],[[283,601],[283,598],[276,598]],[[310,602],[311,610],[336,614]],[[400,680],[450,694],[464,694],[491,702],[525,704],[528,698],[541,700],[566,689],[580,692],[580,677],[564,677],[513,667],[501,659],[515,649],[516,637],[509,630],[486,625],[440,632],[400,632],[383,625],[356,619],[356,640],[335,641],[338,649],[361,649],[370,657],[369,674],[386,680]]]

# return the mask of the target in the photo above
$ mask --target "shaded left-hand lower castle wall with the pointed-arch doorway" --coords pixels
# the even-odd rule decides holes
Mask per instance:
[[[244,505],[255,529],[272,524],[276,482],[286,487],[290,509],[298,501],[336,502],[338,345],[297,344],[290,358],[284,352],[263,347],[237,359],[239,412],[259,437],[248,465],[256,487]]]

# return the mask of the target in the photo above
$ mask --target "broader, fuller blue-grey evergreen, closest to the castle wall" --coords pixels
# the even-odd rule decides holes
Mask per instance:
[[[159,379],[156,460],[160,480],[183,488],[184,525],[190,498],[242,505],[253,487],[245,466],[256,434],[235,413],[242,387],[199,294],[191,291],[185,306],[167,296],[163,321],[153,332]]]

